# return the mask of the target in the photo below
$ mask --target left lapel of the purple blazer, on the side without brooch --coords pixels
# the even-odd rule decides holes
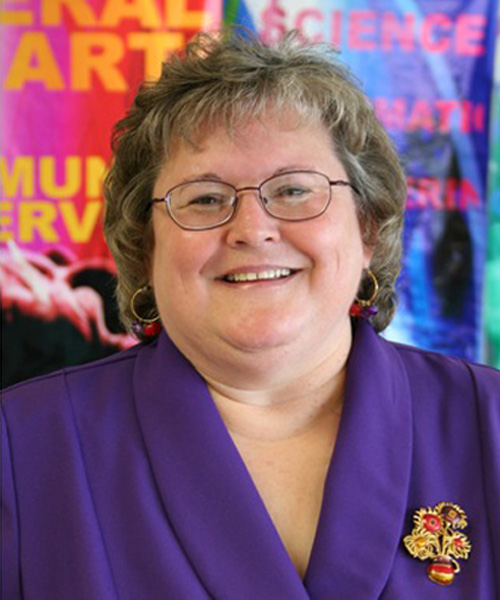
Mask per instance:
[[[307,600],[205,382],[163,333],[137,358],[134,395],[179,543],[217,600]]]

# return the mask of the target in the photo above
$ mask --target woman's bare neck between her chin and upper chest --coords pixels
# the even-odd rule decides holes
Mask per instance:
[[[173,341],[207,382],[233,437],[293,439],[339,419],[352,343],[349,321],[344,331],[333,329],[306,352],[304,343],[252,352],[219,343],[207,353],[182,336]]]

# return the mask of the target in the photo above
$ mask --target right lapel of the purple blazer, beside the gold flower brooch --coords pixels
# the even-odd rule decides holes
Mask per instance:
[[[412,418],[396,350],[360,324],[305,584],[311,600],[380,596],[403,533]]]

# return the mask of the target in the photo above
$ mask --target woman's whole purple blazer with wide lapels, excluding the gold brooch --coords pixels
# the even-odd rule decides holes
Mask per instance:
[[[8,390],[2,444],[3,600],[500,598],[500,373],[366,324],[304,581],[165,334]],[[440,501],[473,546],[450,587],[402,544]]]

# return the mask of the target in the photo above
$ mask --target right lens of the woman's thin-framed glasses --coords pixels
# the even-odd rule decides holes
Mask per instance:
[[[266,181],[261,190],[269,214],[290,221],[320,215],[328,206],[331,193],[326,175],[308,171],[277,175]]]

